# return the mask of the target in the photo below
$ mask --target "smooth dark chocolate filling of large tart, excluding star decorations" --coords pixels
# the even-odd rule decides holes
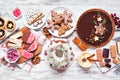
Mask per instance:
[[[103,42],[106,42],[110,35],[112,34],[112,22],[110,18],[103,12],[99,12],[105,19],[106,19],[106,29],[108,30],[104,35],[105,37],[101,41],[97,41],[94,43],[89,42],[86,40],[86,37],[90,35],[91,30],[95,29],[94,23],[93,23],[93,16],[98,14],[98,11],[92,11],[92,12],[87,12],[82,15],[82,17],[79,18],[78,23],[77,23],[77,33],[80,39],[82,39],[84,42],[87,44],[93,45],[93,46],[98,46]]]

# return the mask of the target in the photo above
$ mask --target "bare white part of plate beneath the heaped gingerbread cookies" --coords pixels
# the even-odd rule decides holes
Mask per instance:
[[[73,22],[70,23],[70,25],[72,25],[73,28],[71,28],[70,30],[66,31],[65,34],[63,34],[63,35],[61,35],[61,36],[58,35],[58,30],[54,30],[54,32],[52,32],[51,30],[49,30],[49,32],[50,32],[53,36],[55,36],[55,37],[67,37],[67,36],[69,36],[70,34],[72,34],[72,32],[73,32],[74,29],[75,29],[75,24],[76,24],[76,23],[75,23],[75,16],[74,16],[74,14],[72,13],[72,11],[70,11],[69,9],[64,8],[64,7],[57,7],[57,8],[54,8],[53,10],[56,11],[57,13],[63,13],[64,10],[67,10],[68,13],[71,13],[71,14],[72,14],[72,17],[71,17],[71,18],[72,18]],[[48,14],[47,20],[48,20],[48,19],[51,20],[51,12]],[[46,22],[46,26],[47,26],[47,22]]]

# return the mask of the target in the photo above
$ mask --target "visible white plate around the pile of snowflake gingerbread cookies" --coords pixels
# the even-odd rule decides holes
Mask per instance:
[[[72,14],[71,18],[72,18],[72,22],[71,23],[68,23],[69,25],[73,26],[71,29],[69,30],[66,30],[65,34],[62,34],[61,36],[59,35],[59,31],[58,30],[54,30],[54,32],[51,31],[51,29],[48,29],[49,32],[55,36],[55,37],[67,37],[69,36],[70,34],[73,33],[73,31],[75,30],[75,15],[73,14],[73,12],[71,10],[69,10],[68,8],[65,8],[65,7],[57,7],[57,8],[54,8],[52,9],[51,11],[55,11],[57,12],[58,14],[64,14],[64,11],[67,10],[67,15],[70,13]],[[51,20],[52,21],[52,16],[51,16],[51,12],[49,12],[49,14],[47,15],[47,20]],[[46,22],[46,26],[48,25],[48,23]]]

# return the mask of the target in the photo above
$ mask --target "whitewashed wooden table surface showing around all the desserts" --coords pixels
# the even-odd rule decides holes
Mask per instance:
[[[117,0],[1,0],[0,9],[10,10],[13,7],[19,6],[24,10],[26,7],[42,7],[45,14],[48,14],[50,10],[55,7],[66,7],[70,9],[75,17],[76,22],[78,17],[86,10],[91,8],[101,8],[109,13],[117,13],[120,16],[120,1]],[[1,12],[1,10],[0,10]],[[3,11],[4,13],[5,11]],[[22,18],[18,21],[19,26],[24,26]],[[76,24],[74,24],[75,26]],[[41,30],[38,31],[41,33]],[[49,68],[44,61],[43,51],[41,53],[42,60],[40,64],[33,66],[30,73],[25,70],[15,69],[12,71],[8,67],[0,66],[0,80],[120,80],[120,76],[114,73],[114,69],[106,74],[102,74],[95,64],[88,71],[84,71],[77,64],[76,58],[81,53],[79,48],[72,43],[72,39],[76,36],[76,32],[67,39],[71,42],[73,52],[75,54],[75,60],[73,64],[63,73],[57,73]],[[114,37],[120,36],[120,31],[115,31]],[[47,43],[47,41],[46,41]],[[110,45],[108,43],[105,47]],[[43,46],[43,48],[45,45]],[[0,48],[1,50],[1,48]],[[88,49],[92,52],[92,49]],[[1,52],[1,51],[0,51]],[[0,53],[2,54],[2,53]]]

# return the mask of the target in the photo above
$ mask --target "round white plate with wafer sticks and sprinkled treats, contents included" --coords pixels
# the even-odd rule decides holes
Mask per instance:
[[[40,29],[45,24],[42,8],[26,8],[23,12],[23,23],[30,29]]]

